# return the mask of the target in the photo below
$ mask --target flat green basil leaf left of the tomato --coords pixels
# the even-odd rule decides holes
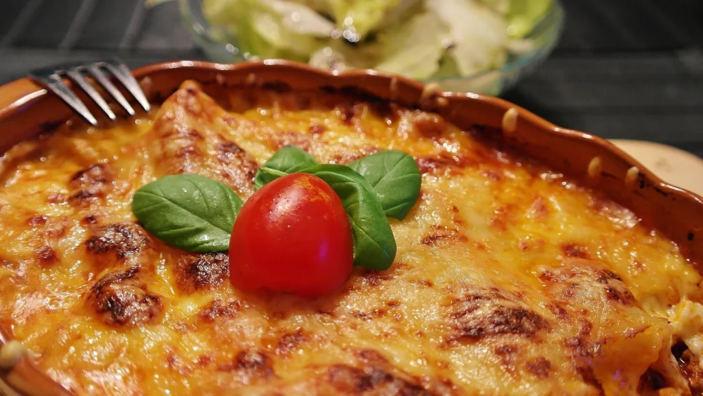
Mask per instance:
[[[162,177],[134,193],[132,212],[147,231],[193,253],[226,252],[242,200],[197,174]]]

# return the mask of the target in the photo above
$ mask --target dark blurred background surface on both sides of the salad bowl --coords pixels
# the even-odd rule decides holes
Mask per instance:
[[[565,127],[703,156],[703,0],[563,3],[559,47],[505,98]],[[0,0],[0,84],[114,54],[131,67],[202,58],[177,1]]]

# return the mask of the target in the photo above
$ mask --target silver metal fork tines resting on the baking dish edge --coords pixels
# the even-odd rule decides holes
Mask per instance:
[[[146,99],[144,92],[139,87],[139,83],[132,77],[127,65],[118,58],[110,60],[101,60],[95,63],[79,64],[79,65],[61,65],[39,70],[32,70],[27,77],[34,80],[44,88],[56,94],[78,115],[93,126],[98,125],[98,120],[91,114],[85,104],[76,96],[66,84],[63,82],[63,77],[68,77],[79,89],[82,89],[93,102],[98,105],[103,113],[110,118],[111,121],[117,120],[115,113],[112,112],[110,106],[105,99],[100,96],[98,91],[86,80],[86,77],[92,77],[105,91],[115,99],[115,101],[127,112],[134,115],[134,108],[129,104],[127,98],[120,93],[120,89],[112,84],[108,74],[114,76],[129,93],[134,96],[141,107],[149,111],[149,101]]]

